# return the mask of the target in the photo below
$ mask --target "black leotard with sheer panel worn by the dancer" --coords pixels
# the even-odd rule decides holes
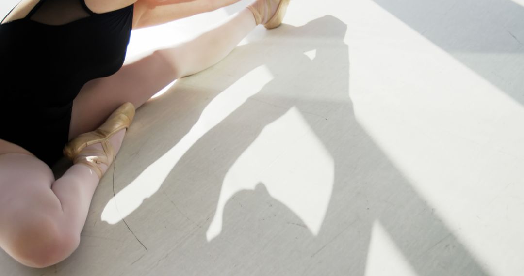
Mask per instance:
[[[133,5],[93,13],[84,0],[41,0],[0,25],[0,139],[51,165],[68,142],[73,99],[124,63]]]

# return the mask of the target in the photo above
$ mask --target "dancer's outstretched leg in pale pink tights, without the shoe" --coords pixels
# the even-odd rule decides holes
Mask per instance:
[[[122,103],[138,108],[173,80],[219,62],[255,27],[252,11],[245,8],[199,36],[91,80],[73,102],[70,139],[96,129]]]

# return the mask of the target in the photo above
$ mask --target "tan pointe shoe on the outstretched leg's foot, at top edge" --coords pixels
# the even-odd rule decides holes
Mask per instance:
[[[282,24],[282,20],[286,15],[286,10],[288,8],[290,0],[266,0],[265,2],[255,2],[252,5],[249,5],[247,8],[252,11],[253,16],[255,17],[255,22],[257,25],[262,24],[264,18],[268,18],[271,15],[271,7],[273,5],[278,5],[277,11],[275,14],[269,18],[269,20],[264,24],[266,29],[274,29]],[[266,16],[263,16],[265,14]]]

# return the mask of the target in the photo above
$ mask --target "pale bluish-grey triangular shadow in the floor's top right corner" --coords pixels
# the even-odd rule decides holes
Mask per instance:
[[[524,7],[510,0],[373,0],[524,105]]]

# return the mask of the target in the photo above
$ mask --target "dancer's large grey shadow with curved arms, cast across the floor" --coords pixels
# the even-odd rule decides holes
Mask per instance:
[[[138,153],[121,156],[118,166],[139,165],[134,174],[118,176],[121,184],[115,183],[116,192],[125,189],[175,142],[180,143],[182,134],[190,131],[211,98],[219,97],[221,91],[260,65],[267,66],[274,76],[259,93],[192,144],[160,190],[126,217],[141,243],[150,251],[165,252],[160,261],[158,255],[146,253],[136,263],[156,263],[149,267],[149,273],[155,274],[183,269],[194,275],[232,275],[257,267],[254,274],[363,275],[372,227],[378,222],[420,275],[487,274],[356,121],[348,93],[350,63],[343,42],[345,32],[343,22],[331,16],[301,27],[284,25],[272,32],[277,39],[270,40],[270,47],[264,39],[238,47],[210,70],[181,80],[172,94],[166,95],[165,99],[171,100],[146,106],[169,108],[171,115],[159,111],[167,118],[139,123],[137,129],[152,133],[149,140],[131,134],[129,145],[141,143],[141,148]],[[304,55],[312,50],[316,50],[312,59]],[[201,89],[203,79],[215,83],[216,90]],[[192,93],[185,93],[189,90]],[[177,106],[172,106],[173,99],[179,102]],[[334,160],[333,192],[320,231],[314,235],[286,202],[276,201],[264,186],[258,186],[228,199],[223,230],[208,242],[206,232],[226,175],[265,126],[291,109],[302,114]],[[177,119],[181,116],[184,118]],[[163,134],[154,123],[183,131],[169,136],[172,131]],[[271,209],[267,209],[269,205]],[[148,216],[150,213],[155,216]],[[264,220],[271,216],[269,222]],[[141,225],[166,223],[176,229],[159,227],[155,235],[146,230],[140,235]],[[304,263],[310,266],[304,267]]]

